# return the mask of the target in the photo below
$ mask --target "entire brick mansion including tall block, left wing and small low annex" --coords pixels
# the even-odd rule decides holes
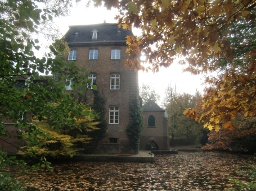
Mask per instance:
[[[124,67],[125,60],[129,58],[125,53],[128,35],[133,35],[132,31],[119,29],[116,24],[107,23],[69,26],[65,34],[70,48],[67,62],[73,60],[78,63],[78,67],[85,67],[90,73],[88,79],[91,82],[88,83],[86,93],[87,104],[92,107],[95,104],[92,85],[96,85],[98,92],[106,99],[106,136],[99,142],[96,153],[134,153],[125,129],[129,123],[129,103],[138,96],[138,73]],[[19,83],[23,86],[25,80],[20,80]],[[66,86],[66,91],[74,91],[70,85]],[[145,119],[141,150],[169,150],[165,111],[149,101],[143,106],[143,115]],[[11,132],[15,132],[14,123],[6,125]],[[15,145],[18,140],[8,141]],[[5,151],[16,152],[14,146],[5,143],[0,141]]]

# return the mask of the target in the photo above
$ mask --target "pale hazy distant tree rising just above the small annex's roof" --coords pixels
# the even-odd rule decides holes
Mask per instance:
[[[155,103],[160,100],[160,95],[155,92],[151,83],[149,85],[144,83],[142,84],[140,87],[140,96],[142,99],[142,104],[147,103],[149,100],[152,100]]]

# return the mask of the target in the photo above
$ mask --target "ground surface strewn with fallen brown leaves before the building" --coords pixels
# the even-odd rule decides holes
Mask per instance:
[[[232,187],[227,176],[246,180],[237,170],[253,155],[226,152],[178,152],[155,155],[155,163],[64,162],[54,171],[37,170],[14,175],[24,188],[37,190],[224,190]]]

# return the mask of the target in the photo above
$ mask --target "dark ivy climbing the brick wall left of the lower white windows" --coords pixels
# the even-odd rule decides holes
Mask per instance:
[[[97,130],[90,133],[90,137],[92,140],[89,144],[86,145],[84,149],[85,153],[92,153],[95,148],[98,146],[98,142],[106,136],[107,122],[105,119],[106,115],[106,99],[104,97],[104,93],[102,94],[98,90],[92,90],[94,95],[94,105],[93,110],[98,113],[98,118],[95,120],[96,122],[100,122],[96,127]]]

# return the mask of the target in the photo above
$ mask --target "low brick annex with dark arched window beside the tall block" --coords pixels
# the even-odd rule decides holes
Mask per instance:
[[[168,115],[154,101],[142,106],[144,127],[140,142],[141,150],[169,150]]]

